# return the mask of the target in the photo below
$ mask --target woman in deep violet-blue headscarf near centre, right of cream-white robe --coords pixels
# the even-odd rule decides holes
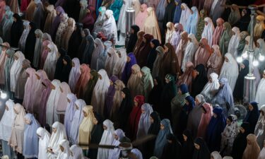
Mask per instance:
[[[127,57],[129,57],[131,60],[126,62],[124,71],[122,72],[122,81],[125,84],[125,86],[127,85],[129,77],[131,76],[131,66],[133,66],[134,64],[137,64],[137,61],[136,61],[136,58],[133,52],[127,54]]]

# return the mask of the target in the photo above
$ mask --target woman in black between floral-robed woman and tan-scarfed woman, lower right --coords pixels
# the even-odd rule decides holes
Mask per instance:
[[[240,131],[237,137],[232,143],[232,153],[231,156],[233,159],[242,159],[242,155],[247,147],[247,135],[249,134],[249,123],[243,122],[241,127],[245,130],[244,133]]]

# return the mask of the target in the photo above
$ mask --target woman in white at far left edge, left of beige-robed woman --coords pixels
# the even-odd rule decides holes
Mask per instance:
[[[4,141],[9,141],[11,136],[13,122],[16,117],[13,110],[14,105],[15,103],[12,100],[6,101],[6,110],[0,122],[0,139]]]

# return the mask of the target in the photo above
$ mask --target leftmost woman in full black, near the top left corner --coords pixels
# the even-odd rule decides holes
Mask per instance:
[[[21,20],[18,13],[14,13],[13,18],[16,18],[16,21],[13,21],[11,26],[11,47],[18,47],[18,41],[23,33],[23,21]]]

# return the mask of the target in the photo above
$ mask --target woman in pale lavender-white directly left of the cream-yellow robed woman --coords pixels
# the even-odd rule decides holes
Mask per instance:
[[[70,136],[69,141],[71,144],[77,144],[79,139],[79,125],[83,121],[83,107],[86,106],[86,102],[84,100],[78,99],[75,102],[76,105],[76,112],[73,115],[73,120],[71,123],[71,129],[70,129]]]

